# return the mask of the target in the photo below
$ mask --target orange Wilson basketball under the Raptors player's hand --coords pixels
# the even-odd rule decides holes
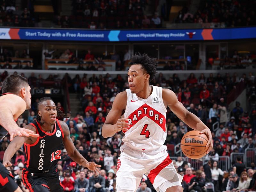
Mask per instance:
[[[180,146],[185,156],[190,159],[199,159],[206,154],[208,138],[200,131],[189,131],[181,139]]]

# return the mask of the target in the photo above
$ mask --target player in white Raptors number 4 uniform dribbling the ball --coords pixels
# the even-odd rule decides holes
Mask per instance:
[[[156,74],[156,60],[147,54],[135,54],[128,70],[130,89],[116,95],[102,127],[104,138],[124,132],[124,145],[117,162],[116,192],[135,192],[143,174],[156,191],[180,192],[182,176],[166,152],[167,106],[189,127],[208,137],[207,153],[212,149],[212,134],[202,121],[190,113],[174,92],[150,86]],[[124,111],[124,118],[120,118]]]

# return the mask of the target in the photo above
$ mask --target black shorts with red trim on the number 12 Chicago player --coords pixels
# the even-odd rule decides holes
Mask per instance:
[[[58,172],[32,173],[25,168],[22,171],[22,181],[29,192],[63,192]]]

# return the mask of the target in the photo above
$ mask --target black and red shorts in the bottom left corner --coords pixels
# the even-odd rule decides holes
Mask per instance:
[[[13,192],[18,185],[10,172],[0,163],[0,192]]]

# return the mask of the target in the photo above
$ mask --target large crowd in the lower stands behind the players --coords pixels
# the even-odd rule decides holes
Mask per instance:
[[[1,75],[1,80],[7,74]],[[120,155],[122,144],[122,132],[116,133],[113,137],[103,139],[100,132],[101,126],[111,109],[112,103],[118,92],[128,88],[126,80],[117,75],[115,78],[109,74],[93,75],[90,78],[84,74],[80,78],[76,75],[73,79],[66,74],[63,79],[68,81],[69,91],[77,92],[81,98],[83,111],[76,116],[64,118],[70,129],[70,137],[79,152],[88,160],[95,161],[102,165],[100,173],[93,173],[73,162],[63,149],[61,161],[58,164],[61,182],[66,191],[86,192],[109,192],[115,191],[117,158]],[[28,77],[31,82],[37,82],[34,74]],[[206,191],[209,182],[214,186],[215,191],[255,191],[256,167],[252,162],[249,167],[245,166],[243,156],[237,156],[235,161],[230,162],[229,170],[218,168],[221,156],[229,156],[232,152],[244,153],[248,148],[256,146],[256,108],[253,105],[250,112],[244,111],[239,102],[236,107],[228,111],[225,95],[236,85],[243,82],[248,87],[255,86],[255,77],[252,73],[243,74],[238,77],[236,74],[230,76],[220,74],[205,77],[201,74],[198,78],[191,74],[186,80],[180,80],[177,74],[165,79],[159,73],[152,85],[162,86],[171,89],[177,95],[178,100],[192,113],[198,116],[212,130],[213,149],[207,154],[202,166],[198,169],[192,166],[184,157],[173,158],[176,170],[184,175],[182,186],[186,191]],[[247,100],[256,104],[255,88],[249,89]],[[254,97],[252,97],[254,95]],[[33,96],[32,96],[33,97]],[[253,99],[254,98],[254,99]],[[38,102],[38,99],[36,100]],[[36,104],[32,104],[28,118],[19,117],[17,123],[24,127],[36,118]],[[60,103],[57,103],[61,107]],[[62,108],[62,110],[64,110]],[[166,145],[180,143],[182,136],[191,130],[184,122],[175,116],[170,109],[166,114],[167,139]],[[220,126],[213,131],[212,124],[219,122]],[[4,151],[9,145],[8,137],[1,141],[0,147]],[[170,156],[179,156],[170,152]],[[21,148],[12,159],[12,167],[9,167],[13,175],[19,179],[20,170],[24,166],[24,153]],[[246,169],[247,168],[247,169]],[[144,175],[140,184],[140,191],[155,191],[148,178]]]

